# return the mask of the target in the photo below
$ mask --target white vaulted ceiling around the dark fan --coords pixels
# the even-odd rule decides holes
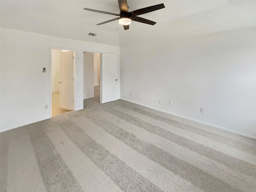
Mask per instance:
[[[83,10],[119,14],[117,0],[1,0],[1,27],[125,46],[256,26],[255,0],[128,0],[129,11],[160,3],[166,8],[140,15],[157,22],[154,26],[132,22],[124,31],[117,20],[96,26],[116,16]],[[91,37],[89,32],[98,35]]]

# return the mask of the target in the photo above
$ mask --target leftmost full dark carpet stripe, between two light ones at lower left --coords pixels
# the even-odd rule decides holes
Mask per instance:
[[[48,191],[82,192],[81,186],[44,130],[30,133],[38,166]]]

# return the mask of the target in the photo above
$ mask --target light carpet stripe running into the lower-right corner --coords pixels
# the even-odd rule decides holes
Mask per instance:
[[[178,144],[164,139],[158,135],[155,135],[141,127],[138,127],[132,123],[124,121],[111,113],[99,110],[95,115],[99,115],[100,118],[104,118],[116,126],[121,127],[125,131],[134,134],[139,139],[148,143],[154,144],[166,152],[181,158],[182,160],[224,180],[225,182],[248,192],[254,192],[256,188],[255,178],[242,174],[237,170],[233,170],[224,164],[218,163],[210,158],[202,156],[196,152],[188,150]]]

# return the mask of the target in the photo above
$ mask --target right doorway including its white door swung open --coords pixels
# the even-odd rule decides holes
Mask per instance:
[[[116,54],[83,52],[84,108],[118,99],[117,63]]]

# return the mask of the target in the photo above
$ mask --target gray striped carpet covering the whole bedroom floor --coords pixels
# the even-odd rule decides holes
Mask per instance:
[[[0,134],[1,192],[256,191],[256,140],[95,95]]]

